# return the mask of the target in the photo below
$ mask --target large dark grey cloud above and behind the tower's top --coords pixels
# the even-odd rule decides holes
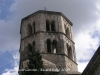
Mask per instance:
[[[1,50],[19,49],[21,19],[37,10],[43,10],[44,7],[50,11],[64,13],[74,23],[75,36],[83,28],[88,27],[90,29],[90,24],[98,19],[95,14],[97,10],[95,1],[15,0],[9,8],[9,11],[14,12],[14,15],[8,15],[7,21],[0,20],[0,30],[2,31],[0,32],[0,35],[2,35],[0,41],[3,41],[2,43],[4,44],[3,46],[0,45]]]

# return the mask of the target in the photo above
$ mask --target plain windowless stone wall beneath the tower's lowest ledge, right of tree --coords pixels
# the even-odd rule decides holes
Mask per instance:
[[[66,55],[42,54],[42,57],[56,65],[57,68],[64,69],[66,72],[78,72],[77,64],[70,60]]]

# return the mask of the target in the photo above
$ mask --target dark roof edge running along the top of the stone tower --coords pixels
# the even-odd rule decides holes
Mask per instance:
[[[73,23],[61,12],[56,12],[56,11],[46,11],[46,10],[38,10],[28,16],[26,16],[25,18],[23,18],[22,20],[28,19],[31,16],[38,14],[38,13],[44,13],[44,14],[56,14],[56,15],[61,15],[66,21],[68,21],[70,23],[70,25],[73,25]]]

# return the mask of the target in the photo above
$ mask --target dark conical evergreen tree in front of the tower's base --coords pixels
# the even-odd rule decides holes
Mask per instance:
[[[24,71],[24,75],[44,75],[44,72],[41,71],[43,67],[42,56],[39,51],[36,51],[33,47],[29,52],[29,62],[27,63],[28,68],[26,70],[32,71]]]

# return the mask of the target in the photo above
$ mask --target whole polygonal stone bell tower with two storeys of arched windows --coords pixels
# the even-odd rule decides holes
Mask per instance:
[[[27,67],[27,53],[35,46],[45,68],[66,69],[65,72],[58,71],[58,75],[78,73],[72,25],[61,12],[39,10],[23,18],[19,69]]]

